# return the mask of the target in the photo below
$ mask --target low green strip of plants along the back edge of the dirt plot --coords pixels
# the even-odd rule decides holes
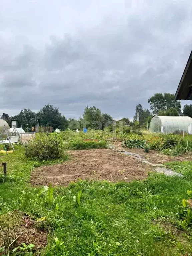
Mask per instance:
[[[107,143],[105,141],[72,141],[69,143],[69,148],[72,150],[107,148]]]

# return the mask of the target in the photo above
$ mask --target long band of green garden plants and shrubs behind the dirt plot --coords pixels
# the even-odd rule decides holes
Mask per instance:
[[[146,146],[167,155],[176,156],[192,151],[192,141],[183,140],[180,135],[142,134],[137,126],[133,126],[123,130],[117,128],[114,132],[105,128],[104,131],[89,129],[87,133],[76,133],[69,129],[60,133],[40,133],[27,146],[26,156],[39,160],[62,158],[66,156],[66,150],[107,148],[107,143],[114,140],[122,141],[128,148]]]

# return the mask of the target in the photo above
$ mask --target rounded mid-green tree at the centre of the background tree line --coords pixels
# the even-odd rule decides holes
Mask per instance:
[[[96,108],[95,106],[93,107],[85,107],[84,113],[83,113],[83,122],[84,125],[87,128],[91,129],[102,129],[102,113],[101,110]]]

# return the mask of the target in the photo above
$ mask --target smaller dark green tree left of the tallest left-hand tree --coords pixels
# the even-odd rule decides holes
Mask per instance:
[[[37,116],[35,112],[31,111],[30,109],[24,108],[18,115],[12,116],[10,119],[17,119],[19,125],[22,126],[25,132],[31,132],[36,118]]]

